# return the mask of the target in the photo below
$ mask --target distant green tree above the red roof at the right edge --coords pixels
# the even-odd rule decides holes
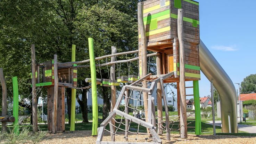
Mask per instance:
[[[243,79],[241,92],[256,92],[256,74],[251,74]]]

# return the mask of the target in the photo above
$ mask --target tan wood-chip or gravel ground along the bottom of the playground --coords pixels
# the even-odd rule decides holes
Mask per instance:
[[[119,133],[123,134],[123,133]],[[145,135],[139,135],[138,138],[143,138]],[[129,136],[133,137],[134,136]],[[166,136],[160,136],[163,144],[256,144],[256,137],[253,136],[231,136],[231,135],[188,135],[188,139],[181,139],[179,134],[172,134],[171,141],[166,141]],[[66,132],[59,134],[47,134],[40,144],[95,144],[95,136],[91,136],[91,131],[82,130],[75,132]],[[116,136],[116,141],[123,141],[123,137]],[[109,133],[105,132],[103,141],[110,141]],[[131,140],[130,140],[131,141]],[[145,142],[145,141],[140,141]],[[150,141],[148,141],[150,142]]]

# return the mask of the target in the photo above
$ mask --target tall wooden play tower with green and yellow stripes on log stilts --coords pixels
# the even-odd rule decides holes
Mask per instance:
[[[165,78],[164,83],[177,83],[181,138],[187,138],[186,96],[194,96],[196,119],[200,118],[199,3],[193,0],[147,0],[138,5],[138,22],[140,77],[147,72],[147,50],[159,52],[155,77],[174,73]],[[192,87],[186,87],[185,81],[193,81],[194,94],[186,95],[185,89]],[[157,108],[158,117],[162,117],[160,83],[157,84]],[[199,120],[196,123],[196,134],[200,135]],[[161,130],[158,134],[162,134]]]

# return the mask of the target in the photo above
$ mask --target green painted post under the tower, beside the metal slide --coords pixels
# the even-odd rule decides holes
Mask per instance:
[[[194,92],[194,102],[195,102],[195,117],[196,117],[196,128],[195,134],[201,134],[201,112],[200,112],[200,97],[199,97],[199,82],[193,81],[193,92]]]

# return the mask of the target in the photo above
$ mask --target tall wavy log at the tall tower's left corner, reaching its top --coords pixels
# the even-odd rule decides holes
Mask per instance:
[[[143,21],[143,2],[138,3],[138,24],[140,27],[140,34],[141,34],[141,45],[139,45],[139,73],[140,78],[147,75],[147,37],[146,37],[146,31],[144,27],[144,21]],[[143,81],[142,84],[145,84],[146,82]],[[143,86],[146,87],[146,86]],[[145,112],[145,118],[146,121],[148,120],[148,93],[143,92],[143,104],[144,104],[144,110]],[[146,101],[145,101],[146,100]],[[150,102],[151,103],[151,102]],[[151,109],[151,108],[150,108]],[[150,117],[151,119],[151,117]],[[151,121],[147,121],[151,122]],[[149,133],[149,129],[147,128],[147,132]]]

